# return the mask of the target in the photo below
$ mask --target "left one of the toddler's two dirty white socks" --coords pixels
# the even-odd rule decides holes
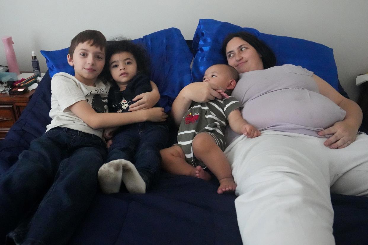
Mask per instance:
[[[102,192],[105,194],[119,192],[122,173],[120,159],[102,165],[98,170],[98,181]]]

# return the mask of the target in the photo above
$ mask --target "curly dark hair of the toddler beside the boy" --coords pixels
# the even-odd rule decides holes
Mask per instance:
[[[112,78],[110,75],[110,59],[114,54],[128,52],[134,56],[135,61],[137,62],[137,70],[140,73],[143,73],[147,76],[150,76],[150,62],[149,57],[146,53],[146,50],[139,46],[138,44],[134,44],[131,40],[122,39],[116,41],[108,41],[107,42],[107,50],[106,50],[106,62],[104,73],[107,78]]]

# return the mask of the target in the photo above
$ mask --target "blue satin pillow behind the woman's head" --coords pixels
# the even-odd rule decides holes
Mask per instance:
[[[332,48],[293,37],[260,33],[256,29],[241,28],[228,22],[200,19],[193,37],[195,57],[192,80],[202,81],[205,70],[214,64],[227,64],[221,54],[222,41],[229,33],[249,32],[265,42],[276,55],[276,65],[300,65],[338,90],[337,68]]]

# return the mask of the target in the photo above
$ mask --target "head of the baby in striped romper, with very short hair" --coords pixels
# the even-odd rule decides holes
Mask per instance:
[[[235,80],[231,78],[230,71],[225,65],[210,66],[203,76],[203,82],[215,84],[225,90],[234,89],[231,81],[234,81],[235,87]]]

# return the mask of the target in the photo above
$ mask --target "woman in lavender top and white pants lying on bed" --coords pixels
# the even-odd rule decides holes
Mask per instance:
[[[256,138],[227,132],[244,244],[334,244],[330,191],[368,195],[368,136],[357,134],[361,109],[313,72],[275,66],[272,50],[248,33],[227,36],[223,53],[240,73],[231,95],[262,131]],[[221,98],[217,89],[189,84],[173,116],[190,100]]]

